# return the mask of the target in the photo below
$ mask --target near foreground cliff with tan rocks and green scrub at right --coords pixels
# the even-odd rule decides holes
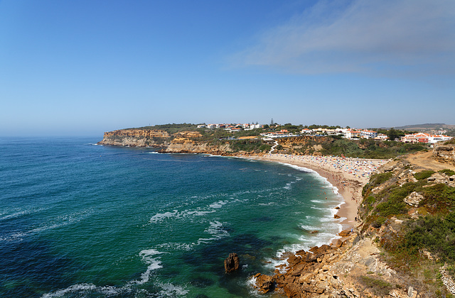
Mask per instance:
[[[432,152],[395,158],[363,188],[354,233],[285,254],[255,287],[287,297],[452,297],[454,210],[454,165]]]

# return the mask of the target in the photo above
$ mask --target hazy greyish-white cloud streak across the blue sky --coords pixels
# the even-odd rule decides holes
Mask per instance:
[[[264,32],[234,61],[309,75],[452,76],[455,1],[320,1]]]

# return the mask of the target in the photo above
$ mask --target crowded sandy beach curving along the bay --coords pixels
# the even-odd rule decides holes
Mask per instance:
[[[249,158],[272,162],[283,162],[314,170],[338,188],[344,204],[338,216],[346,218],[341,222],[343,229],[355,228],[357,211],[362,202],[362,188],[370,180],[375,170],[389,160],[370,160],[364,158],[341,158],[338,156],[314,155],[250,155]]]

